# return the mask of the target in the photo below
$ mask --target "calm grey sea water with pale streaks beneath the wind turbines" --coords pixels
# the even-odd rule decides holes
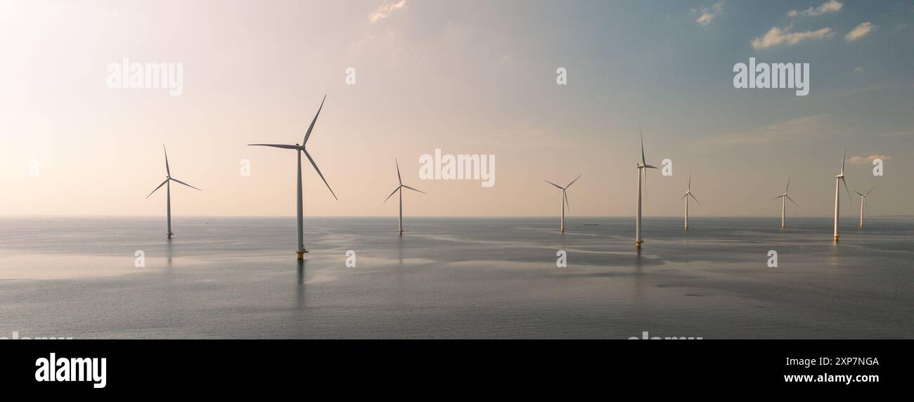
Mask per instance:
[[[914,338],[909,217],[568,221],[0,217],[0,336]]]

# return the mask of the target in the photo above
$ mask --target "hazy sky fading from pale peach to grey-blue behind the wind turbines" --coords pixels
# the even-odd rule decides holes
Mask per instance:
[[[0,1],[0,215],[829,216],[834,175],[914,214],[914,2]],[[183,92],[110,88],[180,63]],[[809,63],[810,92],[733,86],[736,63]],[[176,64],[175,64],[176,65]],[[557,70],[567,84],[557,83]],[[347,82],[355,70],[355,83]],[[349,70],[352,71],[352,70]],[[495,155],[495,185],[423,180],[420,156]],[[874,176],[867,158],[884,162]],[[243,161],[250,175],[242,174]],[[844,191],[844,190],[842,190]],[[853,216],[858,197],[843,213]]]

